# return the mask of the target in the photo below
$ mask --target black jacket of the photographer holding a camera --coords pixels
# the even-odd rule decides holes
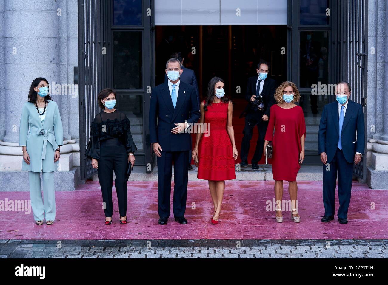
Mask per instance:
[[[257,82],[258,75],[252,76],[248,78],[248,83],[246,86],[246,95],[245,100],[248,102],[251,102],[251,97],[253,95],[256,95],[256,82]],[[264,80],[264,86],[263,86],[263,106],[264,106],[264,115],[267,115],[269,117],[269,109],[272,105],[276,103],[275,100],[275,90],[276,90],[276,82],[274,79],[267,77]]]

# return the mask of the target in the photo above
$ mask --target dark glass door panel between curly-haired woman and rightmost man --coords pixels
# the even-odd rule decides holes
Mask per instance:
[[[331,2],[294,0],[289,3],[288,77],[299,89],[306,121],[305,163],[320,165],[318,129],[324,105],[331,102],[333,74]],[[335,82],[334,82],[335,83]]]

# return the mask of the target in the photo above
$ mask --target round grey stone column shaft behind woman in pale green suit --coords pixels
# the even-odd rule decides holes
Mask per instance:
[[[36,77],[58,81],[59,41],[55,1],[4,0],[5,136],[19,142],[19,123]],[[58,102],[59,97],[53,99]]]

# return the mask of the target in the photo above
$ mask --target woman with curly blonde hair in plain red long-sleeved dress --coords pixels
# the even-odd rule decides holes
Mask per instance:
[[[283,180],[288,181],[291,199],[291,216],[294,222],[300,222],[298,214],[296,175],[305,159],[306,125],[303,109],[294,104],[300,99],[295,84],[283,82],[275,91],[277,104],[272,105],[265,134],[265,147],[273,142],[272,175],[275,180],[276,221],[283,221],[281,206],[283,197]],[[275,129],[275,134],[274,134]]]

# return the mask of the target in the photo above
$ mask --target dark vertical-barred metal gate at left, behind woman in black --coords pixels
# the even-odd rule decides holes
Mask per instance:
[[[106,17],[106,1],[78,0],[78,70],[79,70],[79,124],[80,124],[80,172],[81,180],[97,173],[91,160],[85,157],[90,138],[90,125],[100,112],[97,95],[105,86],[106,57],[102,47],[106,45],[106,31],[102,24]],[[108,47],[107,47],[108,49]],[[107,51],[108,52],[108,51]]]

